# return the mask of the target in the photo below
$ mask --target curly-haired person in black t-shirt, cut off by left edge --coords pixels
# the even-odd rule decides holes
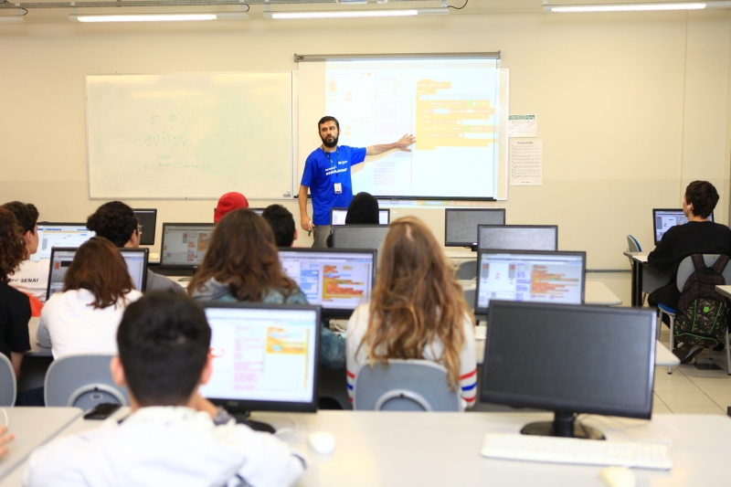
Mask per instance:
[[[30,350],[30,301],[8,281],[26,255],[23,230],[15,215],[0,208],[0,354],[10,359],[16,376],[20,376],[23,355]]]

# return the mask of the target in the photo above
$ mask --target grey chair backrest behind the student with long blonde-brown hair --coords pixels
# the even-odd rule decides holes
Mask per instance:
[[[447,369],[429,360],[364,365],[355,376],[353,408],[370,411],[461,411]]]

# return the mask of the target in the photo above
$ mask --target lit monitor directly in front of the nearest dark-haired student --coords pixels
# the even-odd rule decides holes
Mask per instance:
[[[316,306],[207,302],[213,375],[198,391],[232,412],[317,410]]]

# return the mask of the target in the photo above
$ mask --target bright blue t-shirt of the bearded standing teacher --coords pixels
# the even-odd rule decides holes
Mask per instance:
[[[365,147],[338,145],[334,153],[318,147],[307,157],[302,173],[303,186],[313,196],[313,223],[330,225],[330,208],[346,208],[353,199],[350,166],[365,161]],[[343,192],[335,195],[335,183],[343,185]]]

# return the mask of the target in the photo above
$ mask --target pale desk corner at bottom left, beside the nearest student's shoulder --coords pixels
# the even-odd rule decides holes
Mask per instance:
[[[0,479],[22,471],[19,467],[25,464],[32,450],[54,438],[74,419],[81,418],[82,413],[79,408],[5,408],[5,412],[8,430],[16,439],[7,444],[9,451],[0,459]],[[0,423],[5,423],[1,414]],[[8,485],[20,485],[19,479]],[[5,480],[0,484],[5,485]]]

